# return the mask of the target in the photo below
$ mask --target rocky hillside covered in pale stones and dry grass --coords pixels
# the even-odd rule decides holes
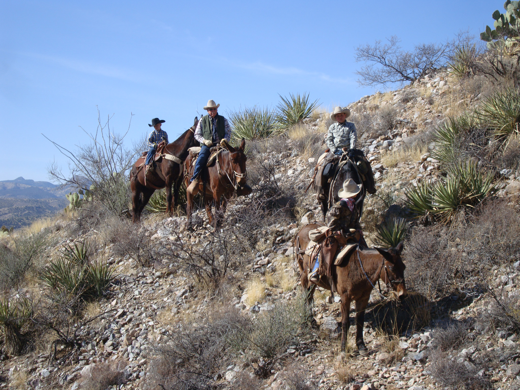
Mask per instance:
[[[432,129],[448,113],[471,107],[479,99],[465,96],[453,101],[460,97],[460,88],[447,73],[439,73],[393,93],[365,96],[349,106],[359,130],[358,147],[371,161],[378,187],[378,197],[369,199],[362,220],[369,241],[388,206],[396,213],[408,213],[398,206],[405,188],[440,175],[438,161],[428,154]],[[518,321],[518,316],[513,311],[513,319],[504,317],[502,326],[492,322],[500,305],[509,303],[492,300],[484,288],[500,288],[510,301],[517,300],[518,253],[507,262],[487,265],[485,272],[472,266],[464,288],[443,294],[419,293],[425,291],[425,282],[415,284],[413,292],[413,280],[407,280],[411,294],[401,305],[382,299],[374,290],[364,329],[367,356],[355,353],[352,333],[347,353],[340,352],[340,303],[327,291],[317,289],[315,294],[318,328],[299,327],[291,333],[298,320],[290,314],[301,309],[292,239],[303,224],[321,218],[315,194],[304,190],[323,150],[327,120],[328,114],[316,116],[299,135],[256,145],[252,161],[259,163],[249,171],[250,180],[258,178],[255,190],[271,188],[261,171],[272,164],[273,180],[287,198],[277,203],[282,212],[259,219],[261,223],[255,218],[265,210],[254,209],[253,193],[248,200],[238,199],[228,206],[228,218],[236,217],[237,223],[216,234],[210,232],[203,210],[196,212],[193,230],[185,229],[184,216],[162,215],[148,215],[138,229],[110,220],[88,227],[64,217],[49,226],[55,241],[46,249],[41,267],[63,245],[88,241],[96,243],[96,256],[117,266],[119,274],[104,298],[91,301],[69,320],[68,337],[75,334],[76,349],[63,342],[54,344],[55,349],[54,334],[21,356],[5,354],[1,386],[140,389],[172,386],[177,380],[170,388],[422,390],[446,388],[449,383],[518,388],[517,333],[505,325]],[[511,199],[509,194],[520,189],[520,172],[508,174],[500,184],[498,195],[503,199]],[[237,228],[254,240],[249,252],[235,250]],[[435,234],[441,237],[445,231]],[[473,258],[470,241],[450,237],[448,253]],[[411,275],[412,264],[407,264]],[[39,296],[40,289],[42,282],[33,278],[11,290],[11,296]],[[236,323],[240,326],[233,328]],[[245,334],[244,329],[251,329],[244,337],[256,341],[254,347],[229,336]],[[289,333],[292,336],[286,341],[284,335]],[[240,346],[233,349],[233,345]],[[189,365],[183,366],[186,361]],[[200,374],[193,379],[175,371],[177,366]]]

